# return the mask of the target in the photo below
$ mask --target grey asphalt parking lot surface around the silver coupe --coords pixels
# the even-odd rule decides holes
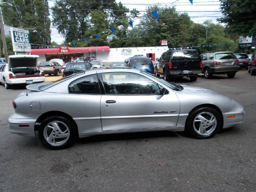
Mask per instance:
[[[12,99],[26,89],[0,86],[0,192],[255,192],[256,76],[240,70],[234,78],[173,81],[233,98],[245,122],[207,140],[183,132],[112,134],[49,150],[39,138],[9,132]]]

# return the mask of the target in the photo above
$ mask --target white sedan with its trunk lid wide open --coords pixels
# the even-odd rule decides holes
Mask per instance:
[[[38,55],[10,55],[0,70],[0,84],[6,89],[15,85],[44,82],[44,72],[36,68]]]

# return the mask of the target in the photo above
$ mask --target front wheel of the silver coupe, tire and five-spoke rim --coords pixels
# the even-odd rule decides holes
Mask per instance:
[[[221,125],[220,114],[214,108],[199,107],[189,113],[186,131],[195,138],[208,139],[220,130]]]

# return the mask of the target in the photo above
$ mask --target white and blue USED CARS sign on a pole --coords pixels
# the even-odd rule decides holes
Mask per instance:
[[[28,30],[10,28],[12,36],[12,47],[14,52],[30,52],[30,38]]]

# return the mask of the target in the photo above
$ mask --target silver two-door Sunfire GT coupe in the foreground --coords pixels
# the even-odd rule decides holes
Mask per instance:
[[[125,132],[185,130],[204,139],[244,122],[244,107],[231,98],[131,68],[97,68],[31,84],[13,106],[10,132],[38,135],[52,149]]]

